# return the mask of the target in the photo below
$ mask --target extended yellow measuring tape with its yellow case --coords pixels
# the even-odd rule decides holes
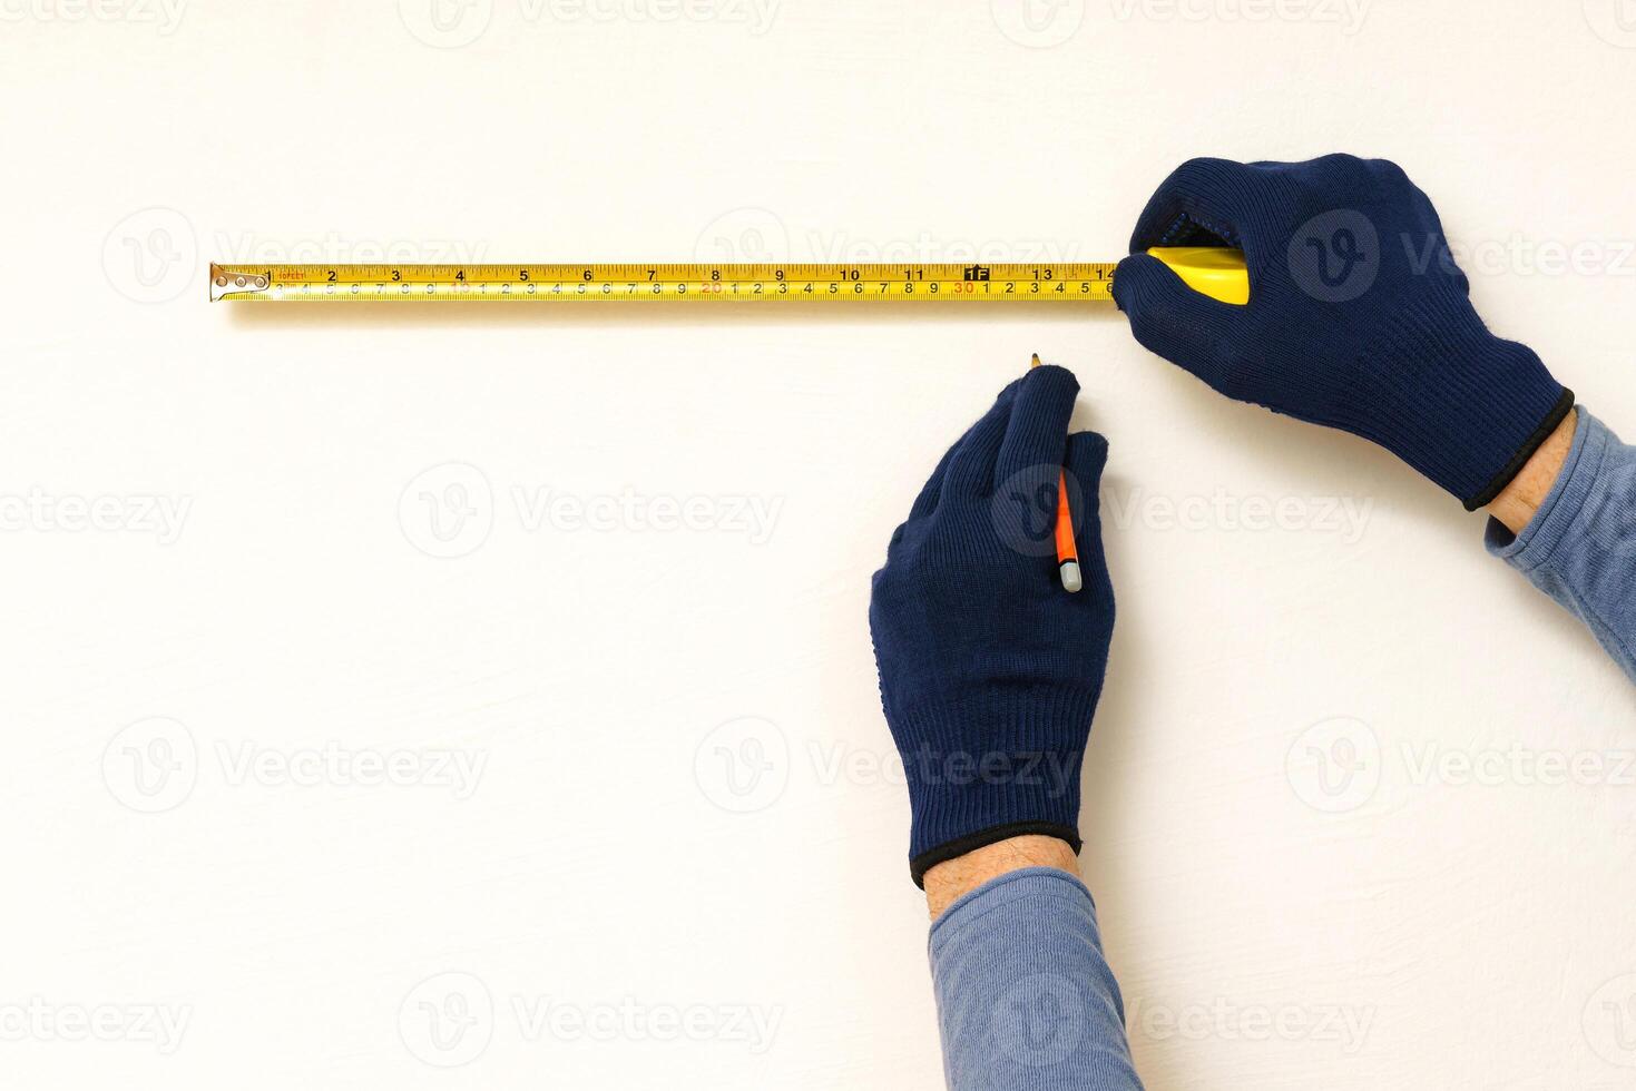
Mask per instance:
[[[1243,255],[1148,250],[1193,288],[1245,303]],[[1112,262],[1003,265],[211,265],[229,303],[1109,303]]]

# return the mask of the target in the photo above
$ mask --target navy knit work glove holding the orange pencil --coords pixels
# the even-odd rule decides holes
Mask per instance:
[[[880,703],[908,777],[910,875],[1019,834],[1080,849],[1080,762],[1114,595],[1098,483],[1108,440],[1068,435],[1080,384],[1034,368],[949,448],[874,579]],[[1085,587],[1062,589],[1057,476]]]

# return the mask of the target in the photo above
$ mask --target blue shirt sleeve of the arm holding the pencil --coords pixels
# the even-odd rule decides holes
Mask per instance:
[[[1140,1091],[1091,891],[1052,867],[983,883],[931,929],[951,1091]]]

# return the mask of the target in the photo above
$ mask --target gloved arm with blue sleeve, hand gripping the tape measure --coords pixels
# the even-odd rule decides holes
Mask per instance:
[[[1242,249],[1250,301],[1189,290],[1152,245]],[[1489,332],[1432,200],[1396,164],[1196,159],[1148,201],[1130,250],[1114,299],[1139,342],[1229,397],[1361,435],[1467,510],[1487,507],[1489,550],[1636,679],[1631,448],[1575,414],[1531,348]]]

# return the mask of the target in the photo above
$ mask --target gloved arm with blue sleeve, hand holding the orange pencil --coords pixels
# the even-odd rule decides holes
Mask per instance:
[[[954,1091],[1140,1088],[1075,875],[1080,764],[1114,622],[1096,510],[1108,443],[1067,433],[1076,391],[1062,368],[1001,391],[921,489],[870,594]],[[1057,579],[1058,474],[1076,594]]]

